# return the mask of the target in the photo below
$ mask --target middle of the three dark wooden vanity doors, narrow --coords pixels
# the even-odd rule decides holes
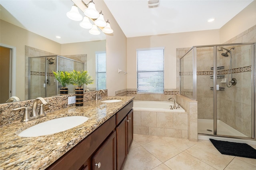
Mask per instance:
[[[122,169],[127,155],[127,119],[116,127],[116,169]]]

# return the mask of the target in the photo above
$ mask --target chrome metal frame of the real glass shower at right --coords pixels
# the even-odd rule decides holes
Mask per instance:
[[[230,43],[230,44],[216,44],[216,45],[200,45],[200,46],[193,46],[187,53],[189,53],[191,50],[193,50],[193,100],[197,99],[196,91],[197,91],[197,53],[196,48],[198,47],[213,47],[213,86],[216,87],[217,85],[217,47],[223,47],[223,46],[236,46],[236,45],[252,45],[252,138],[247,137],[238,137],[238,136],[228,136],[228,135],[217,135],[217,90],[214,88],[213,90],[213,108],[214,108],[214,134],[200,134],[203,136],[214,136],[214,137],[225,137],[225,138],[236,138],[236,139],[242,139],[242,140],[254,140],[256,141],[256,42],[254,43]],[[233,47],[232,47],[233,48]],[[231,48],[231,49],[232,49]],[[226,51],[230,51],[229,49],[223,48]],[[186,56],[185,53],[183,55]],[[180,59],[182,59],[181,57]],[[180,81],[181,81],[181,75],[180,75]],[[180,88],[181,89],[181,88]],[[181,91],[180,91],[181,94]]]

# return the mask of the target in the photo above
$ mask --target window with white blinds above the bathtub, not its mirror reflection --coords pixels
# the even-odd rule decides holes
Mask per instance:
[[[164,47],[137,49],[137,93],[164,93]]]

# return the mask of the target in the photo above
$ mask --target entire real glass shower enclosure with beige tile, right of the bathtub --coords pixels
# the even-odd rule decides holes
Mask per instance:
[[[198,134],[255,140],[255,51],[194,46],[180,59],[180,94],[198,101]]]

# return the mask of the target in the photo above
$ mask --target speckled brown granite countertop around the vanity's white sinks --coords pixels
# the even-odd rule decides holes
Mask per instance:
[[[0,127],[0,170],[45,169],[68,150],[73,148],[92,131],[122,109],[134,97],[106,97],[88,101],[82,107],[68,107],[46,114],[46,117],[21,123],[15,121]],[[102,103],[120,99],[115,103]],[[55,134],[38,137],[20,137],[17,134],[28,127],[51,119],[66,116],[86,116],[88,121]]]

